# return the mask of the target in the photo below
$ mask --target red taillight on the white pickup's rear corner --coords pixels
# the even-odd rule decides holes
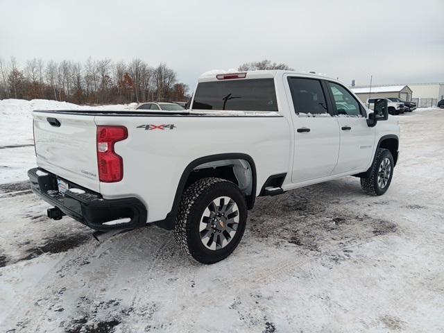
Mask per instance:
[[[128,137],[123,126],[97,126],[97,163],[101,182],[119,182],[123,178],[123,160],[114,144]]]

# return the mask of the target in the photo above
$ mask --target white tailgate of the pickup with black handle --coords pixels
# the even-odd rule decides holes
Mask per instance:
[[[37,165],[99,191],[94,115],[34,111],[33,118]]]

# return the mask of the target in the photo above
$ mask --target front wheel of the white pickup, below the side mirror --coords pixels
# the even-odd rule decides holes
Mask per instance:
[[[387,171],[387,166],[390,171]],[[361,178],[361,187],[367,194],[382,196],[390,187],[393,178],[393,156],[388,149],[379,148],[371,166],[369,178]]]

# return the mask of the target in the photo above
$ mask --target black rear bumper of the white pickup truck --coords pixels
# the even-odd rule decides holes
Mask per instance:
[[[66,191],[60,194],[57,176],[40,168],[28,170],[31,189],[47,203],[58,207],[71,218],[87,225],[94,230],[112,230],[121,228],[138,228],[146,225],[146,207],[137,198],[103,199],[101,194],[73,182],[64,180],[70,189],[81,191]],[[84,193],[81,193],[84,192]],[[118,220],[125,219],[124,223]],[[114,222],[116,221],[117,222]],[[109,223],[110,224],[104,224]]]

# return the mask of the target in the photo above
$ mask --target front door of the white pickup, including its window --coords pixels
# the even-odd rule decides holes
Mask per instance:
[[[368,127],[366,111],[347,88],[338,83],[325,82],[341,133],[338,164],[333,173],[365,169],[373,157],[375,128]]]

